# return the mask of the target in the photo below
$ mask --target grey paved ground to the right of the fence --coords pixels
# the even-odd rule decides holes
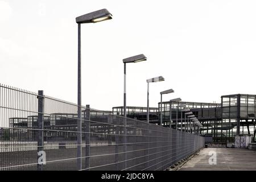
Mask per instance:
[[[209,164],[209,152],[216,152],[216,164]],[[211,160],[213,161],[213,160]],[[256,171],[256,151],[240,148],[204,148],[180,171]]]

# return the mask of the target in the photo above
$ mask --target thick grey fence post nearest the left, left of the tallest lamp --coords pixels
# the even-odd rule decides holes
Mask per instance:
[[[43,113],[44,113],[44,91],[38,91],[38,171],[43,171],[43,163],[39,163],[40,160],[44,159],[41,155],[44,150],[44,121],[43,121]],[[45,157],[45,156],[43,156]]]

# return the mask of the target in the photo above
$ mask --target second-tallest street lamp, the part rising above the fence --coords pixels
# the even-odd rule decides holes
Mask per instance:
[[[123,117],[126,117],[126,63],[138,63],[141,61],[146,61],[147,57],[144,56],[143,54],[137,55],[137,56],[132,56],[128,57],[126,59],[123,59],[123,66],[124,66],[124,72],[123,72],[123,77],[124,77],[124,86],[123,86]]]

